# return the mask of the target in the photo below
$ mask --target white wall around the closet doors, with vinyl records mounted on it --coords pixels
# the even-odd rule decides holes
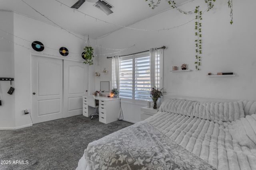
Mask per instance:
[[[6,105],[4,107],[0,106],[0,129],[16,129],[32,125],[30,115],[24,115],[24,109],[28,109],[31,112],[30,62],[32,54],[59,59],[68,58],[73,61],[83,62],[81,54],[86,43],[78,37],[82,39],[86,39],[86,37],[82,35],[75,37],[64,29],[13,12],[1,12],[1,17],[3,17],[1,21],[12,19],[10,24],[6,24],[8,27],[4,26],[5,24],[1,24],[0,29],[4,29],[7,32],[11,31],[10,33],[13,33],[14,36],[10,38],[13,39],[14,43],[4,42],[10,48],[10,52],[5,52],[2,48],[0,50],[0,75],[14,77],[15,91],[11,96],[8,96],[9,94],[2,95],[2,93],[7,93],[10,88],[10,82],[0,82],[0,95]],[[1,43],[2,41],[1,39]],[[34,51],[31,47],[33,41],[42,42],[45,46],[44,51]],[[94,43],[93,40],[90,41]],[[69,55],[67,57],[60,55],[58,52],[60,47],[68,49]],[[8,53],[10,58],[7,59],[5,53]],[[6,57],[3,58],[3,56]],[[90,67],[88,71],[89,74],[94,75],[94,67]],[[90,85],[89,88],[94,88],[94,85]]]

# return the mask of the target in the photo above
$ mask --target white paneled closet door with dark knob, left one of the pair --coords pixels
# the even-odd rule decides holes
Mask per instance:
[[[63,61],[32,56],[31,69],[33,123],[62,118]]]

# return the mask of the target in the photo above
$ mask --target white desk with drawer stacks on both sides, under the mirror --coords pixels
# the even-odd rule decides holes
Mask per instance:
[[[118,120],[120,110],[120,98],[108,98],[102,96],[94,96],[99,101],[99,121],[102,123],[111,123]],[[87,96],[83,96],[83,115],[89,117],[96,113],[96,109],[88,106]]]

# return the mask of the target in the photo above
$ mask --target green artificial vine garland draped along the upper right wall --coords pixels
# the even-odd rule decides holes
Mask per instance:
[[[146,0],[148,1],[148,0]],[[196,29],[196,32],[195,32],[195,35],[196,35],[196,40],[195,40],[195,43],[196,43],[196,61],[195,61],[195,64],[196,64],[196,70],[200,70],[200,66],[201,66],[201,54],[202,54],[202,23],[200,22],[200,20],[202,20],[202,14],[203,12],[199,10],[199,7],[200,6],[196,6],[196,9],[195,10],[192,10],[192,11],[189,11],[189,12],[185,12],[183,10],[181,10],[180,8],[178,8],[176,6],[176,3],[173,1],[170,1],[170,0],[166,0],[171,6],[172,8],[176,8],[179,12],[183,13],[183,14],[191,14],[192,11],[194,11],[194,13],[196,14],[196,18],[195,18],[195,29]],[[207,6],[208,6],[208,10],[209,11],[210,9],[212,9],[214,7],[214,2],[216,0],[204,0],[205,3],[207,3]],[[156,8],[161,0],[157,0],[157,2],[154,2],[154,0],[149,0],[149,6],[154,9]],[[230,18],[231,18],[231,21],[230,21],[230,24],[233,23],[233,4],[232,4],[232,0],[228,0],[228,8],[230,8]]]

